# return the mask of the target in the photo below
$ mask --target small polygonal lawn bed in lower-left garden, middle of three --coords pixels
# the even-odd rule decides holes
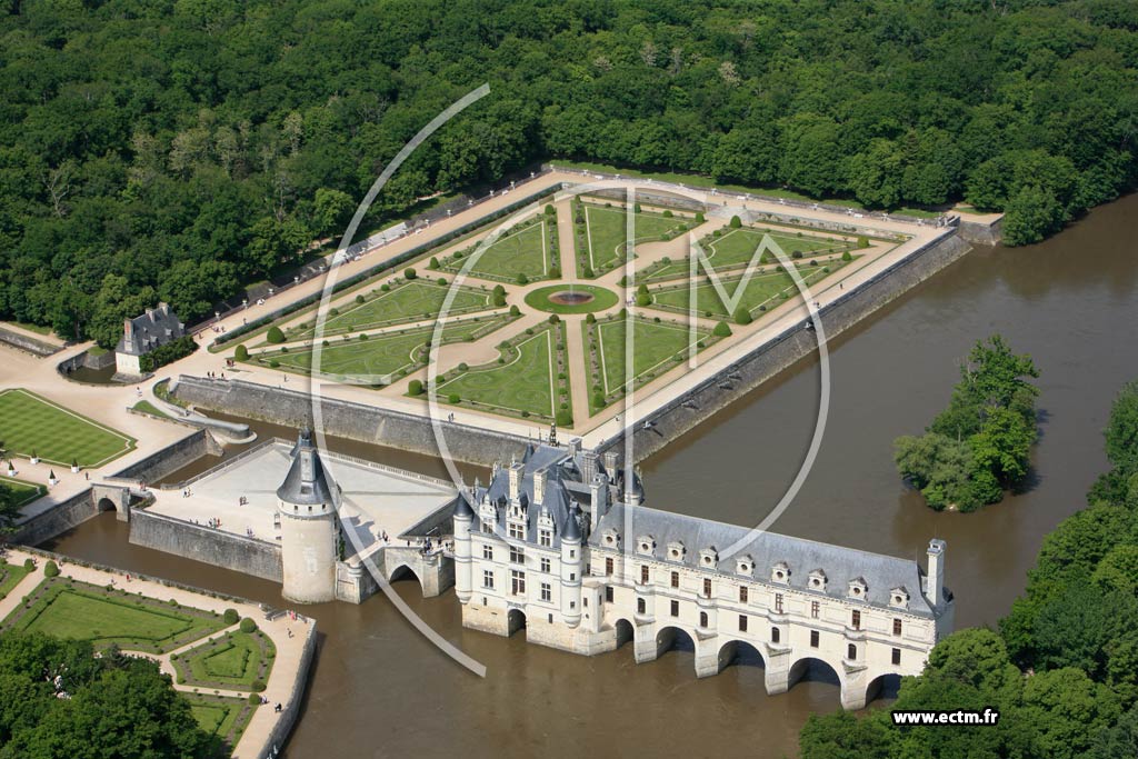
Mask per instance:
[[[251,691],[269,682],[273,644],[263,633],[233,632],[180,654],[174,661],[187,685]]]

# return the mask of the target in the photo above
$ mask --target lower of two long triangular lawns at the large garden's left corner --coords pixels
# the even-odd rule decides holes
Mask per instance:
[[[475,335],[484,335],[506,324],[509,316],[465,319],[443,329],[443,340],[453,343]],[[319,373],[363,382],[380,382],[399,371],[409,371],[424,362],[422,348],[435,335],[434,327],[420,327],[369,337],[366,340],[335,339],[320,355]],[[259,363],[277,361],[280,369],[307,374],[312,371],[314,352],[311,349],[289,353],[272,352],[258,354]]]

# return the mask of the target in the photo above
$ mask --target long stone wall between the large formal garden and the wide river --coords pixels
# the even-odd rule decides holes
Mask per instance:
[[[881,272],[867,284],[826,304],[819,313],[826,338],[833,339],[971,249],[967,242],[950,231]],[[815,353],[818,349],[817,339],[813,330],[806,329],[806,323],[803,319],[683,397],[655,411],[644,420],[651,422],[650,428],[637,424],[633,432],[637,461],[659,452],[767,379]],[[622,453],[622,440],[624,437],[618,435],[604,440],[597,448]]]

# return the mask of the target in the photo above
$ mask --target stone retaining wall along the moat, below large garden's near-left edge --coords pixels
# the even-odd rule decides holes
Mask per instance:
[[[258,419],[274,424],[300,428],[313,426],[313,401],[306,393],[283,390],[240,380],[209,380],[181,377],[174,395],[203,409],[234,416]],[[323,398],[322,428],[325,435],[361,443],[438,456],[438,446],[429,421],[398,411],[376,409],[360,403]],[[523,438],[447,422],[446,444],[457,461],[489,465],[495,460],[525,453]]]

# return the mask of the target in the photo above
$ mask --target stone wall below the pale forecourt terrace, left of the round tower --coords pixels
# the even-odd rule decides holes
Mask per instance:
[[[131,512],[130,542],[275,583],[283,579],[280,546],[146,509]]]

